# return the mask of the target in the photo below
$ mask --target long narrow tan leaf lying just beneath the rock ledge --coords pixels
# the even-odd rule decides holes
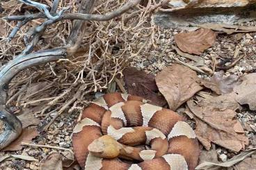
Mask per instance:
[[[248,33],[255,32],[256,26],[238,26],[238,25],[230,25],[230,24],[202,24],[198,25],[201,28],[209,28],[214,31],[223,31],[227,34],[232,33]]]

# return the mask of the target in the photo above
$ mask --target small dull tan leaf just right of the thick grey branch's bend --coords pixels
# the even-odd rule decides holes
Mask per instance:
[[[29,109],[24,109],[28,111],[18,116],[19,120],[22,121],[22,128],[40,124],[40,120],[34,116],[33,112],[29,112]]]

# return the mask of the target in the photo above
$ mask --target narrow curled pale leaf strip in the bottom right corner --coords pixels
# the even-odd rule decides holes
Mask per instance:
[[[243,151],[239,155],[235,155],[230,160],[227,160],[227,162],[222,162],[219,164],[214,162],[203,162],[202,164],[198,164],[198,167],[195,167],[195,169],[211,169],[214,167],[232,167],[234,164],[237,164],[241,160],[248,158],[253,153],[256,153],[256,148],[249,149],[248,151]]]

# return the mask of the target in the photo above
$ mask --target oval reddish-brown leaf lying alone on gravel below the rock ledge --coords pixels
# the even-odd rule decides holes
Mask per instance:
[[[200,55],[216,41],[216,33],[211,29],[200,28],[197,31],[178,33],[174,36],[179,49],[186,53]]]

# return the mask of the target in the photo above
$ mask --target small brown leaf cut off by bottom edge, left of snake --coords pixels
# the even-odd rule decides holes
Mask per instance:
[[[40,163],[40,170],[62,170],[62,155],[51,153]]]

